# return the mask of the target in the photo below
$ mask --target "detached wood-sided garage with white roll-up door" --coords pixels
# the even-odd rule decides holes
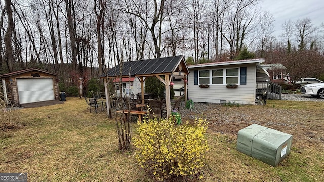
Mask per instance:
[[[0,75],[4,99],[13,105],[58,100],[58,76],[37,68]]]

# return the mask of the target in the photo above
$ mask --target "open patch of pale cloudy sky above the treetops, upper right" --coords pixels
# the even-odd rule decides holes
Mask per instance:
[[[262,0],[259,4],[262,11],[269,11],[274,19],[274,32],[278,36],[282,32],[285,21],[296,22],[298,19],[310,18],[314,26],[324,22],[323,0]]]

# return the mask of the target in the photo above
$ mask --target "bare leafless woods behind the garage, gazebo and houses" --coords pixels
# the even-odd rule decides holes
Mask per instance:
[[[86,86],[124,61],[184,55],[190,64],[249,51],[294,77],[323,74],[322,25],[274,18],[259,0],[34,0],[0,2],[0,74],[37,67]],[[248,54],[251,55],[251,54]],[[240,58],[240,57],[239,57]]]

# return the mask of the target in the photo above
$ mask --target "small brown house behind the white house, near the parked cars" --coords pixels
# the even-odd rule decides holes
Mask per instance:
[[[276,84],[289,81],[289,74],[286,74],[286,67],[281,63],[272,63],[262,65],[269,73],[270,81]]]

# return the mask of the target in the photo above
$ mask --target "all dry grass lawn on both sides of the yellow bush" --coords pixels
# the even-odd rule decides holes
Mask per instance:
[[[151,174],[136,164],[133,146],[118,153],[115,121],[104,112],[89,113],[86,107],[83,98],[67,98],[64,104],[17,110],[21,126],[0,133],[0,172],[27,172],[28,181],[152,181]],[[257,107],[291,114],[307,108],[323,116],[324,102],[269,100],[267,106],[227,109]],[[307,122],[317,118],[309,117]],[[321,117],[315,125],[322,128],[323,123]],[[209,129],[211,150],[202,181],[324,181],[324,138],[308,144],[299,137],[295,143],[293,134],[291,154],[272,167],[235,150],[235,134]]]

